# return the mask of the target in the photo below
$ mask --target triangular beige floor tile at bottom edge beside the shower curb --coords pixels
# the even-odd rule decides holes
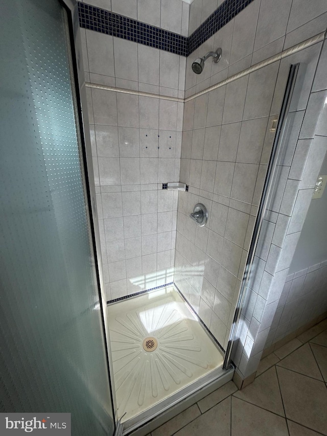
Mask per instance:
[[[230,436],[230,398],[177,431],[175,436]],[[152,433],[153,434],[153,433]]]

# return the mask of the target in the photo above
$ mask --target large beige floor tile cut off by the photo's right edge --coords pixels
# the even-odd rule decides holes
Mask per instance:
[[[277,366],[286,417],[327,434],[327,389],[322,381]]]

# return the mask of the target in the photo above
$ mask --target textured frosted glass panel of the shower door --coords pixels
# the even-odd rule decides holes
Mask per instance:
[[[104,335],[57,0],[2,0],[0,411],[113,433]]]

